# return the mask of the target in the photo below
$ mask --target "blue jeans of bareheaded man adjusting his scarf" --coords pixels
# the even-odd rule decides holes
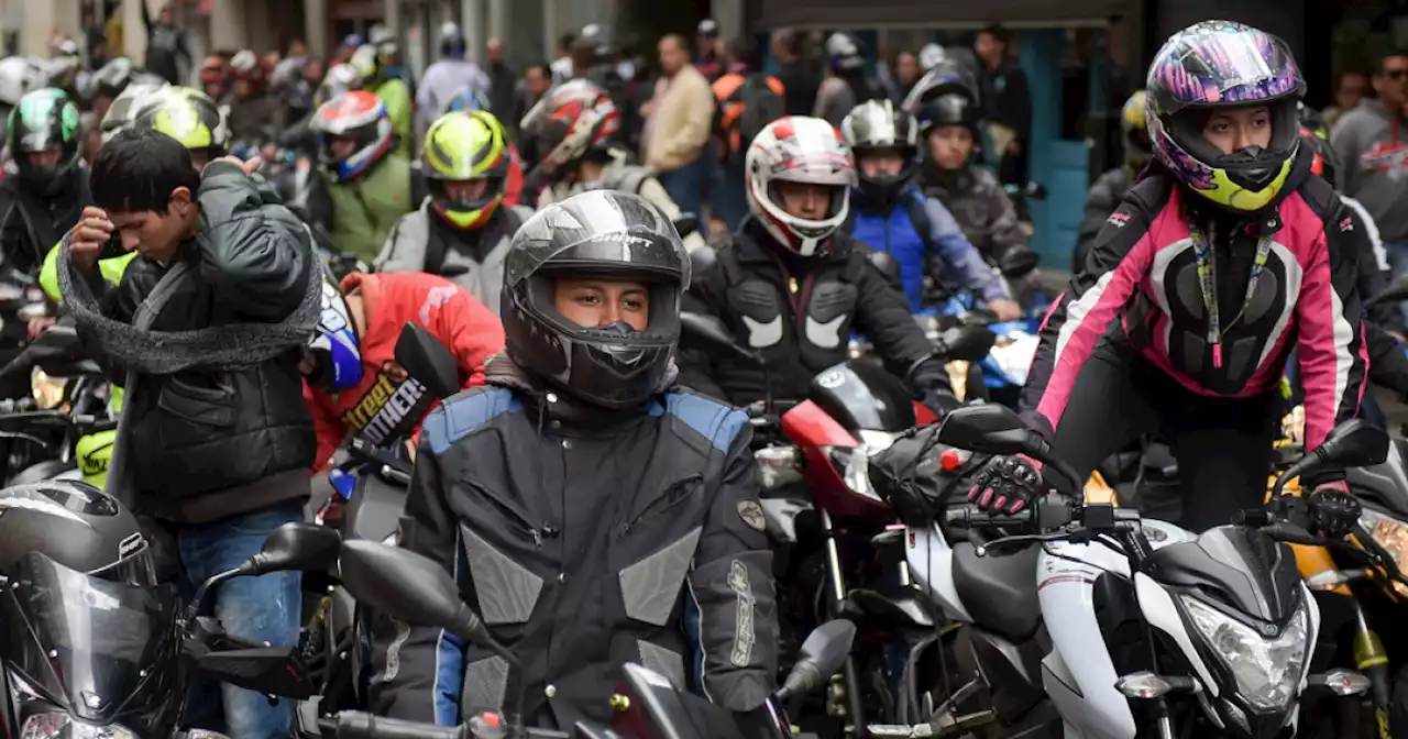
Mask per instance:
[[[303,521],[303,504],[286,503],[253,514],[176,531],[182,586],[194,593],[206,579],[232,570],[256,555],[269,532],[290,521]],[[296,571],[225,581],[214,594],[214,614],[232,636],[256,639],[275,646],[298,643],[303,611],[303,576]],[[193,728],[220,731],[232,739],[287,739],[293,701],[275,705],[260,693],[237,688],[208,678],[190,686],[186,721]],[[218,700],[217,700],[218,698]],[[220,721],[224,705],[224,722]],[[222,726],[221,726],[222,724]]]

